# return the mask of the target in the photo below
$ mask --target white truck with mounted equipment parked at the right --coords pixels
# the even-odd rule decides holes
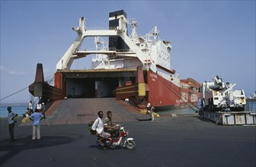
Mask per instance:
[[[219,76],[213,82],[204,82],[201,86],[201,106],[203,110],[245,111],[245,91],[232,90],[236,83],[224,83]]]

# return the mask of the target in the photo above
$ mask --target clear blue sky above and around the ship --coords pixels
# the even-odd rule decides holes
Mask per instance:
[[[1,1],[1,93],[4,102],[29,102],[37,63],[44,77],[76,37],[72,27],[107,27],[123,9],[139,22],[138,34],[158,26],[172,45],[171,67],[200,83],[219,75],[246,96],[255,86],[255,1]],[[87,68],[91,56],[74,61]],[[5,99],[3,99],[5,98]]]

